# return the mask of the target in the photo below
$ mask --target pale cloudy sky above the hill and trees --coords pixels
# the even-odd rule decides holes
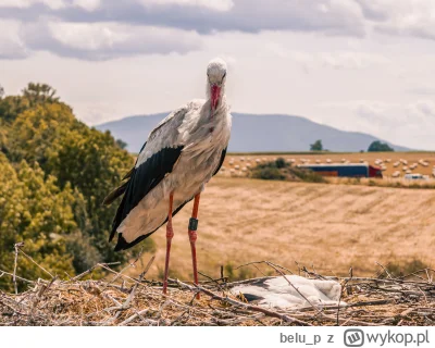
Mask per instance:
[[[435,150],[434,0],[0,0],[0,85],[58,89],[88,124],[202,98]]]

